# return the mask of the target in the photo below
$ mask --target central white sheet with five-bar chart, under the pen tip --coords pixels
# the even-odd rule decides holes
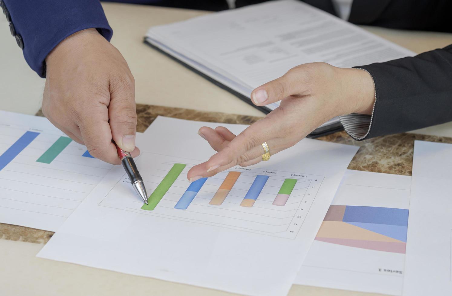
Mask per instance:
[[[137,136],[149,205],[113,168],[39,257],[240,294],[286,294],[357,147],[304,139],[268,162],[189,183],[188,170],[214,153],[197,134],[203,125],[218,124],[158,117]],[[287,201],[275,205],[281,190]]]

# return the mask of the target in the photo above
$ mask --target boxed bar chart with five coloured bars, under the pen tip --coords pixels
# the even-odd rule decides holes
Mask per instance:
[[[324,179],[251,166],[190,183],[187,172],[199,160],[145,152],[136,162],[149,204],[136,198],[124,175],[99,206],[289,239],[297,236]]]

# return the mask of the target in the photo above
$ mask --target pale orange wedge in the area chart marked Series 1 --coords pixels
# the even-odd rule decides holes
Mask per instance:
[[[338,221],[322,222],[319,232],[317,232],[317,237],[403,243],[403,241],[396,240],[389,236],[384,236],[377,232],[369,231],[367,229],[348,224],[347,222]]]

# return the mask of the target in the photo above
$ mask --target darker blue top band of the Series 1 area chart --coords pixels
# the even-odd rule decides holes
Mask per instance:
[[[408,226],[408,210],[403,208],[347,206],[342,221]]]

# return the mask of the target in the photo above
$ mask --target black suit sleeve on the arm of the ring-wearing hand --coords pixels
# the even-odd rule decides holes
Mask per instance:
[[[368,139],[452,121],[452,45],[355,68],[372,75],[376,101],[372,118],[368,116],[370,126],[361,137],[355,136],[352,123],[362,125],[362,116],[341,118],[343,124],[348,123],[348,128],[344,127],[353,138]]]

